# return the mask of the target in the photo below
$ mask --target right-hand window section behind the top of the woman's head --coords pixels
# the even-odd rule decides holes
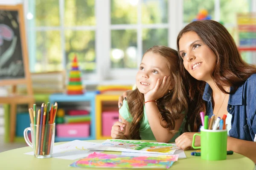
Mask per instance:
[[[204,3],[202,0],[183,0],[184,25],[195,19],[202,9],[207,10],[213,20],[223,23],[239,45],[236,16],[252,11],[250,0],[207,0]],[[241,55],[247,63],[255,63],[252,52],[242,52]]]

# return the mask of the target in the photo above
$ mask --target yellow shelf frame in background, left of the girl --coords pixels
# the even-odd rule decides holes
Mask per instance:
[[[96,95],[96,127],[97,127],[96,139],[97,140],[111,138],[111,136],[103,136],[102,112],[105,112],[105,111],[118,112],[117,103],[120,95],[108,95],[108,94]]]

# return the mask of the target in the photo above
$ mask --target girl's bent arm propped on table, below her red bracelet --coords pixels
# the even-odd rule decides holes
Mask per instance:
[[[154,137],[158,142],[168,143],[175,133],[169,133],[169,130],[163,128],[160,124],[160,111],[157,108],[155,102],[148,102],[145,104],[146,114],[148,116],[148,123],[154,134]],[[175,130],[179,131],[183,118],[175,121]],[[162,124],[166,124],[166,121],[162,121]]]

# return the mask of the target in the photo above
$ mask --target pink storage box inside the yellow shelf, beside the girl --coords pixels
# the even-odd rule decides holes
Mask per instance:
[[[102,136],[111,136],[111,128],[118,116],[119,112],[102,112]]]

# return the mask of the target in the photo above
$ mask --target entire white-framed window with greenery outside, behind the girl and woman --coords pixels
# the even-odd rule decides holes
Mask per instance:
[[[236,12],[249,12],[249,1],[25,0],[30,70],[69,70],[77,55],[85,84],[133,84],[145,50],[176,49],[178,32],[201,9],[236,39]]]

